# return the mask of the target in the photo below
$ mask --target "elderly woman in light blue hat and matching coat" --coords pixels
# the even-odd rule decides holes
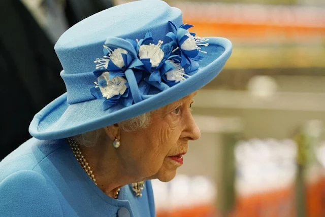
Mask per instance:
[[[150,179],[173,179],[200,137],[193,98],[232,50],[190,27],[179,9],[144,0],[63,33],[67,93],[0,163],[0,216],[155,216]]]

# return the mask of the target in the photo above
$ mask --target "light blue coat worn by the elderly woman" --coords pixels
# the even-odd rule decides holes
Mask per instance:
[[[0,216],[155,216],[151,182],[142,197],[123,186],[104,194],[64,139],[31,138],[0,162]]]

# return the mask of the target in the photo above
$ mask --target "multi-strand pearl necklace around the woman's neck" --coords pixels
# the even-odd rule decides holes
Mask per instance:
[[[79,164],[83,167],[83,169],[88,174],[89,178],[94,182],[94,184],[97,185],[95,176],[94,176],[88,162],[86,161],[85,157],[82,155],[77,142],[73,138],[68,138],[68,143],[70,144],[73,154],[75,155]],[[117,192],[114,195],[115,199],[117,199],[119,192],[120,192],[120,188],[117,189]]]

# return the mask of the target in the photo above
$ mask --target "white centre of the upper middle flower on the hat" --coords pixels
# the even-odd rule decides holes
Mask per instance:
[[[164,58],[164,51],[160,49],[163,41],[159,41],[157,45],[141,45],[139,48],[139,58],[140,59],[150,59],[152,67],[157,67],[161,60]]]

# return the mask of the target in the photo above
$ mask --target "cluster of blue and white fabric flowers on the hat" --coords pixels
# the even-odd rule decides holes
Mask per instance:
[[[189,32],[187,29],[192,25],[176,27],[172,21],[169,24],[172,31],[166,38],[171,42],[166,44],[155,41],[150,31],[141,40],[125,39],[125,44],[130,43],[127,50],[118,47],[122,39],[114,40],[113,44],[111,40],[105,43],[104,57],[94,61],[98,63],[94,71],[98,81],[90,89],[94,97],[105,99],[104,110],[118,103],[130,106],[135,102],[127,77],[134,76],[140,94],[147,95],[150,86],[163,91],[189,78],[190,73],[199,68],[198,62],[204,58],[203,54],[207,54],[201,46],[207,47],[209,39],[201,39]]]

